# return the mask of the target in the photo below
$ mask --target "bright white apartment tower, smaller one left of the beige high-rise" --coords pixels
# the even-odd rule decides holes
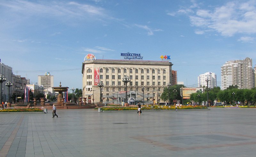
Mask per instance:
[[[197,77],[198,87],[207,87],[207,80],[208,80],[208,88],[217,87],[217,78],[216,74],[212,72],[207,72],[201,74]]]

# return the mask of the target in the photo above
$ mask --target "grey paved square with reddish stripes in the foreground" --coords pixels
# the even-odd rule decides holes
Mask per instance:
[[[246,157],[256,109],[0,113],[0,157]]]

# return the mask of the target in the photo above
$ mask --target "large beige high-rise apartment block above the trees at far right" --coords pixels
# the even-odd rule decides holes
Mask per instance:
[[[254,73],[252,59],[227,61],[221,67],[221,89],[237,85],[239,89],[252,89],[254,87]]]

